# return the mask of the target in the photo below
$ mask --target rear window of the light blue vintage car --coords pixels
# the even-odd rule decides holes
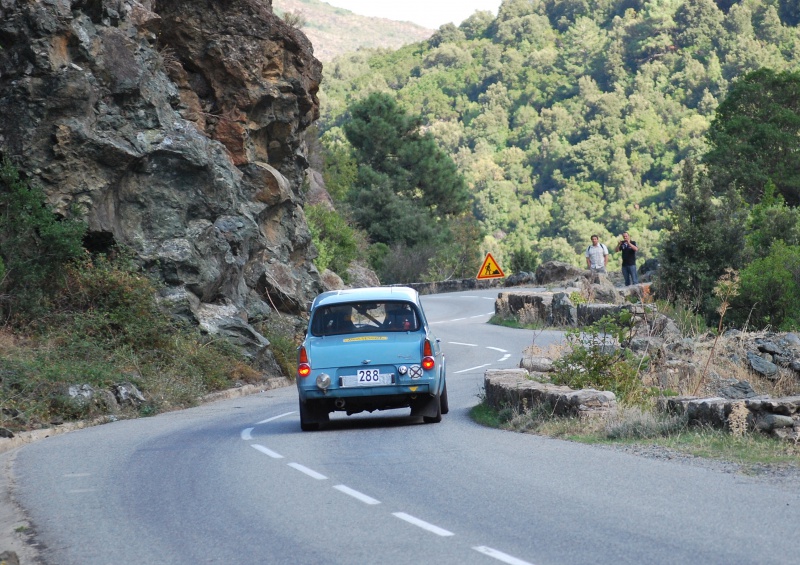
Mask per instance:
[[[344,333],[415,332],[420,319],[409,302],[352,302],[320,306],[312,315],[314,336]]]

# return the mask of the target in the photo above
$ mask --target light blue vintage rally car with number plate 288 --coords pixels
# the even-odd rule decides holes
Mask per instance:
[[[297,361],[304,431],[319,429],[334,411],[411,408],[427,423],[447,414],[444,354],[412,288],[320,294]]]

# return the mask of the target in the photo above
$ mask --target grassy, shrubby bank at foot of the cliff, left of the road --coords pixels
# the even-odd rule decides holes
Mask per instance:
[[[71,262],[63,280],[46,312],[0,328],[2,427],[149,416],[264,378],[230,342],[162,312],[156,284],[123,255]],[[124,383],[144,401],[118,404]]]

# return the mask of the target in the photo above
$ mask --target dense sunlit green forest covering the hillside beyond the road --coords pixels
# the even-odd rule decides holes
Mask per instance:
[[[798,68],[798,21],[791,0],[506,0],[497,17],[476,12],[426,42],[326,64],[326,177],[342,214],[369,228],[354,214],[370,181],[347,128],[370,96],[388,97],[463,176],[475,255],[582,264],[591,234],[613,247],[629,231],[640,259],[658,257],[684,163],[705,170],[720,102],[748,73]],[[748,190],[763,194],[759,182]],[[390,256],[414,247],[382,243],[396,244]]]

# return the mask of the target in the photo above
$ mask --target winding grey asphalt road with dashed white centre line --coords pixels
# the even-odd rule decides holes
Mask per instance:
[[[497,291],[427,296],[450,414],[334,416],[293,387],[21,448],[15,496],[48,565],[796,562],[800,493],[469,418],[534,339]]]

